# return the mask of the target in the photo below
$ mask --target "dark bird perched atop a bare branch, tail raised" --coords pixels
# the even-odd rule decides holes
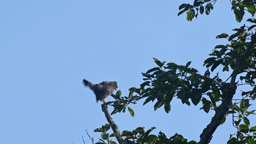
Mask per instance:
[[[83,83],[85,86],[89,87],[92,91],[94,91],[97,102],[101,100],[105,104],[106,98],[118,88],[116,81],[103,81],[101,83],[94,84],[89,82],[88,80],[83,79]]]

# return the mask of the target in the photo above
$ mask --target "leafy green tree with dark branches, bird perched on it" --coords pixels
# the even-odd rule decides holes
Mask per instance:
[[[195,0],[193,4],[181,4],[178,15],[187,12],[187,20],[192,21],[199,13],[210,14],[216,2],[216,0]],[[102,104],[102,111],[109,124],[95,129],[96,132],[101,133],[100,142],[97,143],[116,143],[110,139],[111,137],[116,137],[119,143],[210,143],[214,131],[225,123],[227,116],[232,117],[232,125],[237,128],[237,133],[231,135],[227,143],[256,143],[256,126],[250,125],[248,118],[249,115],[255,114],[255,110],[248,111],[248,107],[256,98],[256,20],[253,18],[256,1],[243,0],[230,1],[230,3],[237,22],[242,21],[245,11],[248,11],[252,18],[247,20],[250,22],[248,26],[232,29],[234,33],[230,36],[226,33],[217,35],[217,39],[224,38],[229,42],[226,45],[217,45],[210,53],[210,57],[203,63],[207,68],[205,73],[200,74],[195,68],[189,67],[191,62],[177,65],[154,58],[156,67],[142,73],[144,82],[140,87],[130,88],[127,96],[121,96],[121,91],[118,91],[112,94],[115,101]],[[216,73],[216,68],[222,68],[224,73],[230,71],[231,74],[221,79],[218,72]],[[237,89],[241,86],[246,86],[250,90],[237,93]],[[235,93],[239,95],[237,99],[234,99]],[[202,103],[200,109],[206,113],[210,110],[215,112],[211,122],[202,130],[199,142],[188,141],[180,134],[171,137],[167,137],[162,132],[158,135],[150,134],[154,127],[148,130],[138,127],[120,133],[108,112],[110,105],[114,107],[111,115],[125,112],[127,109],[131,116],[134,116],[134,111],[129,105],[144,100],[143,105],[151,101],[155,103],[154,110],[164,106],[164,110],[168,113],[174,97],[181,99],[182,104],[186,105]],[[108,133],[110,128],[114,133]]]

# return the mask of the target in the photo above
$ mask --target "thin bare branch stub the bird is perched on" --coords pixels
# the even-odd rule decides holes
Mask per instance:
[[[120,134],[120,130],[118,128],[118,125],[114,123],[112,117],[109,115],[108,112],[108,105],[102,104],[101,105],[102,111],[105,113],[105,117],[107,118],[108,123],[111,125],[112,130],[114,133],[117,133],[117,136],[115,136],[120,144],[124,144],[125,141],[123,137]]]

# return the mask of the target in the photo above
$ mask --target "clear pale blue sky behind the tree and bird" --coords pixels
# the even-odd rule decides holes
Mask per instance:
[[[183,1],[186,2],[186,1]],[[177,16],[179,1],[12,1],[0,4],[0,143],[78,144],[85,129],[107,123],[95,95],[82,79],[118,81],[124,95],[142,83],[142,72],[161,61],[192,66],[201,73],[216,35],[242,24],[229,1],[219,1],[209,16],[188,22]],[[107,99],[113,100],[112,98]],[[132,105],[113,116],[121,131],[156,127],[167,136],[199,140],[213,112],[174,99],[171,112],[153,104]],[[228,131],[228,132],[227,132]],[[235,133],[228,118],[211,143]]]

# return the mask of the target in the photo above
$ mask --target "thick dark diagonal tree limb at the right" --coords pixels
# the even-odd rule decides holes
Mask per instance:
[[[212,135],[217,127],[222,122],[223,117],[226,115],[226,112],[230,108],[230,104],[232,98],[236,92],[236,76],[238,75],[241,69],[241,63],[245,60],[245,58],[249,55],[250,50],[253,46],[255,46],[256,35],[252,35],[251,43],[247,46],[247,49],[241,55],[240,59],[237,61],[236,67],[231,74],[230,83],[226,83],[227,85],[222,88],[223,101],[222,104],[216,109],[215,115],[212,117],[210,124],[207,125],[205,129],[203,129],[202,134],[200,135],[200,144],[210,143],[212,139]]]

